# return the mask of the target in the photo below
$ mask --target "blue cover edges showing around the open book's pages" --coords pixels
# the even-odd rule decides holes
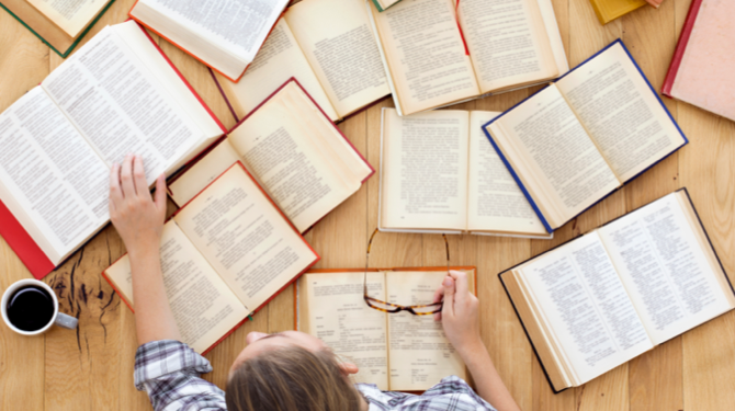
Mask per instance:
[[[675,121],[674,117],[671,116],[671,113],[669,113],[669,111],[666,109],[666,105],[665,105],[664,102],[662,101],[660,96],[656,93],[656,91],[654,90],[654,88],[651,85],[651,82],[648,81],[648,79],[646,78],[646,76],[645,76],[645,75],[643,73],[643,71],[641,70],[641,67],[637,65],[637,62],[635,61],[635,59],[633,58],[633,56],[631,56],[630,52],[629,52],[627,48],[625,47],[625,44],[623,44],[623,42],[622,42],[620,38],[617,39],[617,41],[614,41],[614,42],[612,42],[612,43],[610,43],[608,46],[606,46],[604,48],[602,48],[600,52],[596,53],[593,56],[589,57],[587,60],[583,61],[580,65],[578,65],[576,68],[574,68],[573,70],[570,70],[570,71],[567,72],[566,75],[564,75],[564,76],[559,77],[558,79],[556,79],[555,82],[556,82],[556,81],[559,81],[559,80],[562,80],[562,79],[564,79],[564,78],[566,78],[567,76],[570,76],[572,73],[576,72],[577,70],[584,69],[585,65],[587,65],[589,61],[593,60],[596,57],[598,57],[598,56],[601,55],[602,53],[604,53],[604,52],[607,52],[608,49],[610,49],[610,48],[612,48],[612,47],[615,47],[615,46],[622,47],[622,49],[625,52],[625,55],[626,55],[626,56],[630,58],[630,60],[633,62],[633,66],[635,66],[635,68],[637,69],[637,72],[641,75],[641,78],[643,78],[643,80],[644,80],[645,83],[647,84],[648,90],[649,90],[651,93],[656,98],[656,101],[658,101],[658,103],[660,104],[662,109],[664,110],[664,112],[666,113],[666,115],[668,116],[668,118],[671,121],[671,124],[674,124],[674,126],[676,127],[677,132],[679,133],[679,135],[680,135],[681,138],[683,139],[683,142],[682,142],[680,146],[676,147],[674,150],[671,150],[670,152],[668,152],[668,153],[666,153],[665,156],[663,156],[662,158],[659,158],[657,161],[655,161],[654,163],[652,163],[649,167],[647,167],[646,169],[644,169],[643,171],[641,171],[640,173],[637,173],[637,174],[634,175],[633,178],[631,178],[631,179],[624,181],[623,184],[620,186],[620,187],[622,187],[624,184],[626,184],[626,183],[630,182],[631,180],[633,180],[633,179],[635,179],[636,176],[641,175],[642,173],[644,173],[645,171],[647,171],[648,169],[651,169],[652,167],[654,167],[655,164],[657,164],[658,162],[660,162],[662,160],[664,160],[665,158],[667,158],[668,156],[670,156],[671,153],[674,153],[676,150],[678,150],[679,148],[681,148],[681,147],[683,147],[685,145],[687,145],[687,144],[689,142],[689,140],[688,140],[687,137],[683,135],[683,133],[681,132],[681,128],[679,128],[679,125],[676,123],[676,121]],[[544,216],[544,214],[541,212],[539,205],[536,204],[536,201],[533,198],[533,196],[532,196],[531,193],[529,192],[529,187],[527,187],[525,184],[523,184],[522,180],[520,179],[520,176],[519,176],[519,174],[518,174],[519,171],[516,170],[516,169],[510,164],[510,161],[509,161],[508,158],[504,155],[502,150],[501,150],[500,147],[498,146],[498,142],[496,141],[496,138],[493,137],[493,134],[491,134],[491,133],[489,132],[489,129],[488,129],[488,126],[489,126],[489,125],[491,125],[493,123],[498,122],[498,121],[501,119],[504,116],[506,116],[508,113],[510,113],[510,112],[512,112],[512,111],[514,111],[514,110],[518,110],[520,106],[524,105],[530,99],[533,99],[535,95],[538,95],[539,93],[541,93],[541,92],[544,91],[545,89],[546,89],[546,88],[544,88],[544,89],[538,91],[536,93],[530,95],[529,98],[527,98],[527,99],[524,99],[523,101],[521,101],[520,103],[516,104],[514,106],[512,106],[511,109],[509,109],[508,111],[506,111],[505,113],[502,113],[501,115],[497,116],[497,117],[494,118],[493,121],[490,121],[490,122],[488,122],[487,124],[485,124],[485,125],[483,126],[483,132],[485,132],[485,135],[486,135],[487,138],[489,139],[489,141],[490,141],[490,144],[493,145],[493,147],[495,148],[495,150],[498,152],[498,156],[500,157],[500,159],[502,160],[502,162],[506,164],[506,167],[507,167],[508,170],[510,171],[510,174],[513,176],[513,180],[516,180],[516,182],[518,183],[519,187],[520,187],[521,191],[523,192],[523,195],[525,196],[525,198],[528,198],[529,203],[531,204],[531,207],[533,208],[533,210],[536,213],[536,215],[538,215],[539,218],[541,219],[541,222],[544,225],[544,227],[546,228],[546,230],[547,230],[549,232],[553,232],[555,229],[557,229],[558,227],[561,227],[563,224],[568,222],[569,220],[572,220],[573,218],[576,218],[577,216],[573,216],[573,217],[568,218],[566,221],[564,221],[563,224],[559,224],[558,226],[552,227],[552,225],[551,225],[550,221],[549,221],[547,216]],[[620,187],[619,187],[619,189],[620,189]],[[601,202],[602,199],[604,199],[607,196],[609,196],[610,194],[612,194],[612,193],[614,193],[614,192],[615,192],[615,190],[611,191],[610,193],[606,194],[606,195],[602,196],[601,198],[597,199],[593,204],[590,204],[590,205],[589,205],[587,208],[585,208],[585,210],[583,210],[581,213],[586,212],[587,209],[589,209],[590,207],[592,207],[595,204]],[[579,214],[581,214],[581,213],[579,213]]]

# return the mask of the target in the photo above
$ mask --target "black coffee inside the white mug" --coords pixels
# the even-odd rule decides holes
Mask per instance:
[[[54,317],[54,299],[44,288],[29,285],[19,288],[8,300],[10,323],[23,331],[37,331]]]

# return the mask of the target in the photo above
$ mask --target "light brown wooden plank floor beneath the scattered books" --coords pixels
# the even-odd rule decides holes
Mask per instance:
[[[690,0],[665,0],[601,26],[588,0],[553,0],[570,66],[622,37],[654,88],[660,89]],[[134,0],[117,0],[90,34],[126,19]],[[88,38],[91,35],[88,36]],[[234,119],[201,64],[166,42],[163,50],[213,111]],[[41,82],[63,59],[49,52],[8,13],[0,12],[0,111]],[[535,89],[462,104],[461,109],[504,111]],[[497,274],[573,236],[687,186],[725,270],[735,281],[735,124],[683,103],[664,99],[691,144],[629,186],[557,231],[553,241],[451,237],[453,265],[476,265],[482,332],[495,364],[523,410],[732,410],[735,404],[735,312],[676,338],[577,389],[554,395]],[[340,125],[370,162],[378,165],[380,112],[386,99]],[[0,150],[2,148],[0,147]],[[308,233],[320,267],[360,267],[377,218],[377,178]],[[431,235],[384,233],[371,255],[375,266],[444,264],[443,241]],[[100,272],[124,252],[108,227],[64,266],[46,277],[64,312],[79,318],[75,331],[55,329],[24,338],[0,326],[0,410],[149,410],[133,386],[136,350],[133,313]],[[0,239],[0,290],[30,277]],[[207,379],[224,387],[230,363],[248,332],[293,326],[292,290],[280,295],[207,355]]]

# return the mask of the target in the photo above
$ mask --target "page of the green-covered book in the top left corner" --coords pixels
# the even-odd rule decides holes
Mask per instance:
[[[48,20],[64,30],[69,37],[77,37],[110,0],[25,0]]]

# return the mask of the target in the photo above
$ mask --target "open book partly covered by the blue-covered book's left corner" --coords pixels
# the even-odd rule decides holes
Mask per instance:
[[[483,134],[498,114],[383,109],[378,228],[551,238]]]

